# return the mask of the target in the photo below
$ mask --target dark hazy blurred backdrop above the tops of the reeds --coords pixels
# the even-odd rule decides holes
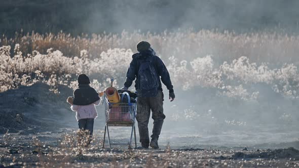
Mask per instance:
[[[0,2],[0,32],[16,31],[120,33],[123,30],[163,32],[185,29],[218,29],[251,32],[280,29],[297,33],[299,2],[207,0],[8,0]]]

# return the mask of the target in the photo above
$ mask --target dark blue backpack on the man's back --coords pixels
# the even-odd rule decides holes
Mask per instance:
[[[150,60],[150,57],[141,60],[138,70],[139,90],[137,94],[140,97],[155,97],[158,94],[159,82],[157,72]]]

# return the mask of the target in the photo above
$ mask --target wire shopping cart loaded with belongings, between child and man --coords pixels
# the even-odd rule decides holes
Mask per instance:
[[[104,131],[103,148],[105,145],[106,130],[108,135],[109,148],[111,148],[111,145],[128,145],[128,147],[131,148],[133,132],[135,148],[137,147],[135,131],[136,103],[131,103],[130,96],[127,92],[124,92],[122,94],[121,100],[123,100],[124,96],[127,96],[128,103],[110,103],[106,95],[104,96],[106,123]],[[137,102],[136,99],[134,99],[134,102]],[[109,127],[132,127],[130,141],[128,143],[111,143]]]

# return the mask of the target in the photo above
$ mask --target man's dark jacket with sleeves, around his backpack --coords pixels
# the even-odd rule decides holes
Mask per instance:
[[[155,68],[155,70],[157,72],[156,77],[159,82],[158,89],[162,91],[162,85],[161,85],[161,80],[162,80],[164,85],[169,90],[169,93],[173,92],[173,86],[171,84],[168,70],[167,70],[166,66],[164,65],[163,61],[155,55],[155,52],[153,49],[148,49],[148,50],[142,51],[140,53],[136,53],[132,56],[132,58],[133,59],[130,63],[130,67],[127,71],[127,78],[126,78],[126,82],[124,84],[125,87],[129,88],[136,78],[135,89],[136,89],[136,91],[138,91],[138,89],[139,89],[139,83],[138,83],[139,66],[140,66],[142,60],[147,59],[153,63],[153,67]],[[161,76],[161,80],[160,80],[160,76]],[[145,95],[145,97],[146,97],[146,95]]]

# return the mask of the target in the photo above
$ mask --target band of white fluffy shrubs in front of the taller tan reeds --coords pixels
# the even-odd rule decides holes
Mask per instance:
[[[50,86],[51,92],[58,94],[58,85],[76,89],[77,75],[80,73],[88,74],[91,86],[103,91],[110,77],[124,80],[133,54],[130,49],[115,48],[102,52],[100,58],[92,58],[86,50],[81,51],[79,57],[69,58],[58,50],[49,49],[48,54],[34,51],[24,57],[17,44],[15,54],[11,57],[10,48],[0,48],[0,92],[44,82]],[[219,65],[213,56],[198,57],[191,61],[179,61],[179,58],[172,56],[168,62],[166,65],[173,84],[182,90],[212,88],[218,90],[220,96],[254,101],[259,92],[248,90],[246,86],[263,83],[284,97],[299,98],[299,73],[294,64],[270,68],[269,63],[258,65],[244,56]],[[118,87],[117,80],[114,86]]]

